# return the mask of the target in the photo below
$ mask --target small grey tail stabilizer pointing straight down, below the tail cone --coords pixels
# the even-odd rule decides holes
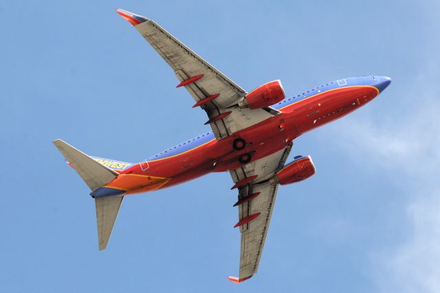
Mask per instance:
[[[98,197],[95,199],[99,250],[107,248],[122,199],[124,199],[123,196]]]

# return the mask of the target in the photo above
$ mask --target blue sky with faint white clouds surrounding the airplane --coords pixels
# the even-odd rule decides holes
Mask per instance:
[[[52,145],[137,162],[208,131],[123,8],[241,87],[393,83],[307,133],[318,173],[278,192],[258,274],[235,285],[228,173],[126,198],[98,252],[94,202]],[[0,1],[1,292],[440,292],[438,1]]]

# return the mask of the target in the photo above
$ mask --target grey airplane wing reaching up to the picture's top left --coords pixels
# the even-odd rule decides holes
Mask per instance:
[[[275,109],[240,109],[236,104],[246,91],[214,66],[186,47],[157,23],[125,10],[116,10],[129,21],[153,49],[170,65],[181,83],[208,114],[217,139],[250,127],[278,113]]]

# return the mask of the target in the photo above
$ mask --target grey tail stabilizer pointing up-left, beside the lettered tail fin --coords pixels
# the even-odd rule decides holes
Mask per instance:
[[[118,176],[117,172],[96,162],[82,151],[63,142],[63,140],[54,140],[54,144],[92,191],[111,182]]]

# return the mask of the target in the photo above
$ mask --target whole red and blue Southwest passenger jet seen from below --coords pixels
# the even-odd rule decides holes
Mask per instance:
[[[247,92],[184,43],[146,17],[116,10],[170,65],[206,111],[212,131],[171,146],[139,163],[86,155],[63,140],[54,140],[67,163],[91,189],[98,222],[99,250],[107,248],[126,195],[157,191],[211,172],[229,172],[237,189],[241,232],[239,276],[258,270],[278,186],[303,181],[316,173],[310,156],[287,157],[300,135],[366,105],[391,83],[386,76],[342,78],[287,97],[280,80]]]

